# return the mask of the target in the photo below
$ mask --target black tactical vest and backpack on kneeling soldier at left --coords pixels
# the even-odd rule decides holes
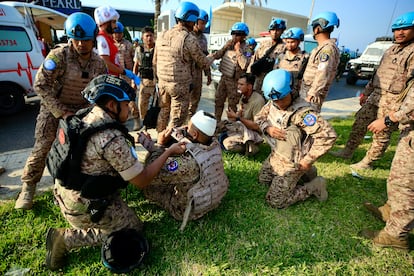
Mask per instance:
[[[112,175],[88,175],[81,172],[81,163],[89,138],[105,129],[117,129],[131,143],[134,138],[128,134],[128,129],[118,122],[97,122],[85,127],[82,118],[92,107],[82,109],[76,115],[66,120],[59,120],[56,139],[48,154],[46,164],[54,179],[62,181],[62,186],[75,191],[80,191],[81,196],[88,199],[105,198],[124,188],[128,182],[118,174]]]

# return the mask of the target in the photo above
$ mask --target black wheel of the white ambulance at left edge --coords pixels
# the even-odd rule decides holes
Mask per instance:
[[[24,108],[24,91],[13,83],[0,83],[0,115],[11,115]]]

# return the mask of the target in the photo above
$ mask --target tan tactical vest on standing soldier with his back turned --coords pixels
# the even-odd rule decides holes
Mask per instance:
[[[157,76],[161,81],[191,83],[192,62],[184,59],[184,42],[189,32],[174,27],[157,39]]]

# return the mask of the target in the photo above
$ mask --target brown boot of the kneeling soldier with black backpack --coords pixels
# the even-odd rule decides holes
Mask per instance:
[[[46,235],[46,266],[57,270],[65,265],[68,252],[63,237],[65,229],[49,228]]]

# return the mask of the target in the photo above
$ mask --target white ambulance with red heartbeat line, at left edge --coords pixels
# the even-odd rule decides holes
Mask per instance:
[[[63,13],[21,2],[0,3],[0,115],[20,111],[25,96],[34,95],[34,78],[44,57],[33,22],[56,16],[60,19],[53,20],[54,27],[63,29]]]

